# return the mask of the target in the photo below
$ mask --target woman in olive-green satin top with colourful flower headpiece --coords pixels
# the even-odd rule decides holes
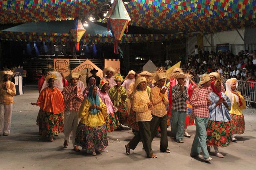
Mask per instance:
[[[109,97],[114,103],[114,106],[117,107],[118,111],[116,112],[118,120],[121,124],[126,124],[126,119],[128,118],[127,111],[127,91],[124,86],[121,86],[121,83],[124,81],[121,74],[117,74],[114,78],[116,85],[109,89]],[[123,126],[120,124],[119,129],[123,129]]]

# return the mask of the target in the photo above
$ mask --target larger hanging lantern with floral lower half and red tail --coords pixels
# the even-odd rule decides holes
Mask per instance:
[[[118,41],[121,40],[125,29],[128,32],[128,23],[131,21],[122,0],[114,0],[106,19],[108,30],[110,29],[115,39],[114,54],[118,54]]]

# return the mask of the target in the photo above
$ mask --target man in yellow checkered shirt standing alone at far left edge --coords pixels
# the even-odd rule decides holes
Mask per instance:
[[[10,81],[12,71],[0,72],[0,135],[8,136],[11,129],[13,97],[16,94],[15,84]]]

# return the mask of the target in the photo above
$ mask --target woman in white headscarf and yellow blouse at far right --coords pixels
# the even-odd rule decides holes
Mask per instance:
[[[246,108],[246,102],[240,91],[237,91],[238,80],[231,78],[226,81],[225,94],[231,101],[231,110],[229,111],[232,120],[231,124],[231,140],[236,141],[234,134],[243,134],[245,130],[244,115],[242,110]]]

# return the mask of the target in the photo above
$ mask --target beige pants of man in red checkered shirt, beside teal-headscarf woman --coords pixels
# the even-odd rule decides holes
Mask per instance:
[[[79,119],[79,115],[78,115],[78,111],[67,111],[64,113],[64,135],[65,141],[68,141],[69,143],[69,139],[71,137],[71,132],[73,133],[72,135],[72,143],[73,143],[73,147],[75,146],[75,138],[76,138],[76,129],[78,126],[78,123],[80,121]]]

